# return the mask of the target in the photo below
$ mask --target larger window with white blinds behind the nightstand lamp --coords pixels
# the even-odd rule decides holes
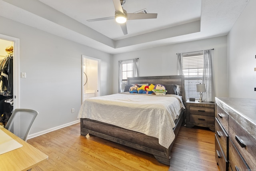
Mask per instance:
[[[204,68],[203,51],[182,54],[182,72],[185,78],[186,97],[199,99],[196,84],[202,83]]]

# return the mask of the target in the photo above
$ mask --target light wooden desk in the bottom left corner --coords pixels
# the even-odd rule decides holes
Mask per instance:
[[[48,159],[46,154],[23,141],[4,127],[0,126],[0,129],[23,145],[18,149],[0,155],[1,171],[27,171]]]

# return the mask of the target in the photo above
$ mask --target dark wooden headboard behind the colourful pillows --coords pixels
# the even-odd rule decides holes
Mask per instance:
[[[186,95],[184,86],[184,76],[152,76],[152,77],[129,77],[127,78],[127,84],[176,84],[180,85],[180,95],[182,101],[186,106]]]

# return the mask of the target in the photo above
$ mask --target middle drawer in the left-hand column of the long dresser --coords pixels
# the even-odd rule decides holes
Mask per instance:
[[[222,147],[226,159],[228,159],[228,134],[217,118],[215,118],[215,134],[220,143],[220,147]]]

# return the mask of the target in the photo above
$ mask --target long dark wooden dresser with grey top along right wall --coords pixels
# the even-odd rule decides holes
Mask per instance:
[[[215,101],[215,159],[220,171],[256,170],[256,99]]]

